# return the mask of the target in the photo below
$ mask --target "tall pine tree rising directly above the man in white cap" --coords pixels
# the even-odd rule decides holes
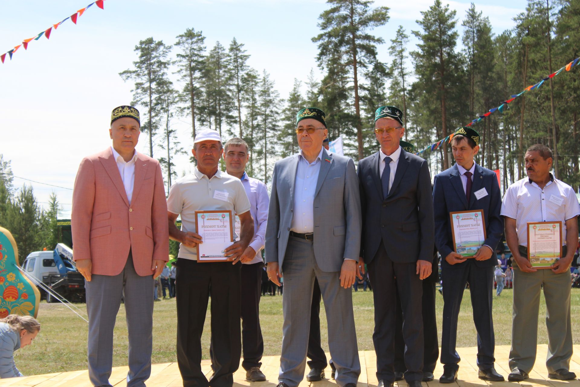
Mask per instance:
[[[180,101],[187,103],[187,107],[180,108],[181,115],[191,115],[191,141],[195,139],[195,115],[197,103],[201,98],[199,87],[201,74],[204,72],[205,37],[201,31],[187,28],[181,35],[177,35],[175,46],[180,49],[176,54],[175,64],[177,74],[183,81],[182,92],[179,93]]]

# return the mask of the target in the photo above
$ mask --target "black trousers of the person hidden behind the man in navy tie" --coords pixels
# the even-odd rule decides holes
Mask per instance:
[[[437,338],[437,316],[435,314],[435,283],[423,280],[423,372],[431,372],[439,359],[439,340]],[[395,336],[395,371],[405,372],[405,341],[403,339],[403,309],[397,292],[397,334]]]

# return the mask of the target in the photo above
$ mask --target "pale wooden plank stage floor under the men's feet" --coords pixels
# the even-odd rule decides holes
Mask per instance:
[[[548,350],[547,345],[538,345],[538,355],[536,357],[536,364],[534,370],[530,374],[530,378],[520,385],[523,387],[580,387],[580,380],[574,379],[572,381],[559,381],[548,379],[548,371],[546,370],[546,352]],[[458,381],[455,387],[484,387],[484,386],[494,386],[499,387],[499,385],[509,386],[512,382],[485,382],[477,378],[477,366],[476,366],[476,353],[477,348],[458,348],[457,351],[461,356],[461,363],[459,363],[459,374]],[[570,371],[576,372],[580,376],[580,345],[574,345],[575,354],[572,356],[572,361],[570,364]],[[495,369],[502,374],[507,379],[507,374],[509,370],[507,369],[507,356],[509,355],[509,346],[502,345],[495,347]],[[328,354],[327,354],[328,356]],[[358,381],[358,387],[369,387],[376,386],[378,381],[376,380],[376,359],[374,351],[360,351],[359,352],[361,361],[361,375]],[[240,369],[234,374],[234,387],[250,386],[253,387],[274,387],[278,382],[278,367],[280,367],[280,357],[279,356],[264,356],[262,359],[262,371],[266,374],[268,380],[266,382],[248,382],[245,381],[245,371],[240,367]],[[202,368],[206,372],[206,375],[211,374],[211,368],[209,360],[204,360],[202,362]],[[111,374],[110,382],[115,387],[126,386],[126,375],[127,367],[115,367],[113,368],[113,374]],[[308,372],[308,367],[306,367],[306,372]],[[336,387],[336,383],[329,379],[331,376],[330,367],[325,371],[327,379],[323,379],[320,382],[307,382],[306,378],[300,384],[299,387]],[[440,386],[438,378],[443,374],[443,366],[437,364],[437,368],[434,372],[435,380],[433,382],[425,383],[423,382],[423,387]],[[396,382],[395,385],[398,387],[405,387],[407,384],[405,381]],[[24,378],[10,378],[10,379],[0,379],[0,387],[10,386],[10,387],[90,387],[88,371],[71,371],[71,372],[59,372],[55,374],[47,375],[34,375]],[[154,364],[151,369],[151,377],[147,381],[147,387],[181,387],[182,379],[177,369],[177,363],[165,363],[165,364]],[[454,386],[454,385],[451,385]]]

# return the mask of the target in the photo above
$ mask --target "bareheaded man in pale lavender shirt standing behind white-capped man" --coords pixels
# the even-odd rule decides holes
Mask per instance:
[[[262,294],[262,272],[264,261],[261,251],[264,248],[266,221],[268,218],[268,189],[258,179],[248,176],[245,172],[249,161],[248,144],[233,138],[224,145],[224,160],[226,172],[242,181],[242,185],[250,201],[250,213],[254,222],[254,236],[244,254],[242,262],[242,350],[244,361],[242,367],[246,370],[246,379],[252,382],[266,380],[260,371],[260,360],[264,353],[264,341],[260,328],[260,295]]]

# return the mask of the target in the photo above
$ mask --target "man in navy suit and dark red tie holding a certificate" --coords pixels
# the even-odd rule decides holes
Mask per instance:
[[[473,161],[479,150],[479,133],[472,128],[459,128],[451,139],[456,164],[435,176],[433,204],[435,244],[441,255],[443,280],[443,335],[441,337],[441,383],[454,383],[459,369],[455,350],[457,320],[465,284],[469,283],[473,321],[477,330],[477,366],[479,378],[503,381],[494,368],[494,321],[492,291],[494,266],[498,258],[495,248],[503,232],[500,211],[502,197],[494,171]],[[486,238],[470,259],[455,252],[449,212],[483,210]]]

